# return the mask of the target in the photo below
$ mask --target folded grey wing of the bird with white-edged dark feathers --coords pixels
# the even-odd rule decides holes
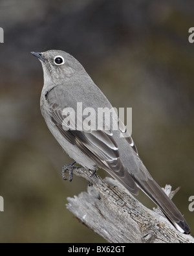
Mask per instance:
[[[80,131],[72,128],[67,130],[63,122],[65,119],[63,116],[65,106],[62,109],[57,102],[54,102],[50,93],[47,94],[47,102],[50,106],[50,118],[64,139],[78,146],[87,156],[91,157],[98,167],[107,170],[109,174],[119,180],[133,194],[138,194],[135,181],[131,178],[120,159],[118,146],[113,139],[111,130]],[[70,118],[69,115],[70,126],[76,127],[75,120]]]

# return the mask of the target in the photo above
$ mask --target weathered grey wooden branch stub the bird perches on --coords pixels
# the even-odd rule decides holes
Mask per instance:
[[[194,238],[177,231],[162,211],[147,209],[118,181],[102,180],[84,168],[69,167],[65,172],[70,170],[93,185],[87,192],[67,198],[67,209],[108,242],[194,243]],[[171,186],[165,191],[173,196]]]

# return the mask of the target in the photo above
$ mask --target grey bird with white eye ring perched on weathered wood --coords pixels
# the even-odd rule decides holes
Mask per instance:
[[[72,108],[77,113],[78,102],[82,102],[83,109],[93,108],[96,113],[98,108],[113,108],[80,62],[64,51],[31,53],[38,57],[43,67],[41,113],[50,132],[65,152],[87,169],[95,172],[96,167],[100,167],[106,170],[133,194],[138,194],[138,188],[142,189],[178,231],[190,233],[180,211],[142,163],[131,136],[121,136],[126,133],[125,128],[119,126],[117,130],[68,130],[64,126],[63,110]],[[76,122],[72,119],[69,121]],[[116,119],[112,121],[116,122]]]

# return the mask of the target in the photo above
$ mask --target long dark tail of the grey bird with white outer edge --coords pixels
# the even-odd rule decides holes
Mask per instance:
[[[142,189],[143,192],[147,194],[147,196],[149,196],[149,198],[151,198],[151,200],[153,200],[153,202],[155,202],[156,205],[160,207],[160,209],[162,209],[164,215],[167,216],[178,231],[186,234],[190,233],[186,220],[155,180],[148,179],[143,182],[141,181],[140,183],[136,181],[136,184],[138,187],[140,187],[140,189]]]

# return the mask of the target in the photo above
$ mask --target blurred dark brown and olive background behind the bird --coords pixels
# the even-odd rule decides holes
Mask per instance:
[[[140,157],[161,187],[181,187],[173,201],[194,233],[193,10],[193,0],[0,1],[0,242],[105,242],[65,207],[87,181],[62,180],[72,159],[39,110],[43,71],[30,51],[48,49],[77,58],[113,106],[133,108]]]

